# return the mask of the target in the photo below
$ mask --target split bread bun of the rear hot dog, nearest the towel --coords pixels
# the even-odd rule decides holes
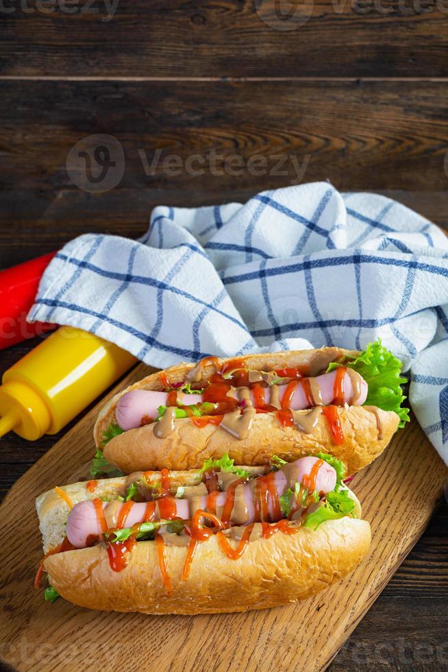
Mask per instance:
[[[297,367],[307,374],[316,375],[326,370],[330,362],[341,361],[344,357],[353,358],[358,354],[342,348],[321,348],[248,355],[238,361],[252,370]],[[219,365],[229,361],[232,359],[219,360]],[[116,422],[116,404],[123,394],[132,389],[162,390],[166,388],[167,380],[171,385],[184,382],[194,367],[194,364],[177,364],[164,372],[147,376],[114,396],[101,410],[95,424],[97,446],[101,446],[105,430]],[[216,364],[207,361],[200,372],[198,385],[210,379],[215,371]],[[300,414],[307,411],[296,412]],[[249,435],[242,440],[219,426],[206,424],[205,427],[197,427],[190,418],[183,418],[174,421],[174,431],[164,438],[155,437],[152,424],[130,429],[104,446],[104,457],[128,473],[137,469],[199,468],[205,459],[221,457],[224,453],[229,453],[232,459],[241,464],[261,465],[269,461],[272,455],[291,461],[305,454],[316,455],[324,451],[342,459],[349,473],[353,474],[382,453],[397,430],[399,417],[393,411],[366,406],[340,407],[337,412],[344,434],[342,445],[334,444],[324,416],[319,416],[310,433],[303,433],[296,427],[282,427],[275,413],[258,413]]]

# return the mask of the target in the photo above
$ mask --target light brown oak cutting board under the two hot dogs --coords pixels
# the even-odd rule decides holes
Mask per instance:
[[[139,365],[119,387],[147,372]],[[323,670],[421,536],[443,496],[448,470],[412,420],[351,484],[371,523],[369,555],[345,581],[314,598],[283,608],[208,616],[93,612],[63,599],[50,604],[33,588],[42,555],[34,499],[54,485],[88,475],[92,428],[102,404],[13,485],[0,507],[0,653],[19,670]]]

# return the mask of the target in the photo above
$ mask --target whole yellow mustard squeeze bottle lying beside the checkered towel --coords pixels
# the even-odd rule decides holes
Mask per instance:
[[[57,433],[136,362],[95,334],[61,326],[3,374],[0,436]]]

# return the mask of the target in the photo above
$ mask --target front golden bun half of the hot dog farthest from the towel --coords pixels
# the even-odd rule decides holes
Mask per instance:
[[[365,520],[328,520],[317,529],[278,532],[249,542],[230,560],[216,536],[201,542],[186,581],[180,580],[185,547],[166,546],[171,577],[168,595],[160,575],[155,542],[138,542],[127,567],[112,571],[105,545],[50,555],[49,581],[65,599],[82,607],[146,614],[245,612],[304,599],[342,579],[358,565],[371,542]],[[236,545],[236,542],[234,542]]]

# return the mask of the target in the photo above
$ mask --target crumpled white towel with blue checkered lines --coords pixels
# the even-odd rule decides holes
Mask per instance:
[[[138,242],[66,245],[29,320],[92,331],[158,367],[379,336],[448,463],[448,240],[388,198],[319,182],[245,205],[160,206]]]

